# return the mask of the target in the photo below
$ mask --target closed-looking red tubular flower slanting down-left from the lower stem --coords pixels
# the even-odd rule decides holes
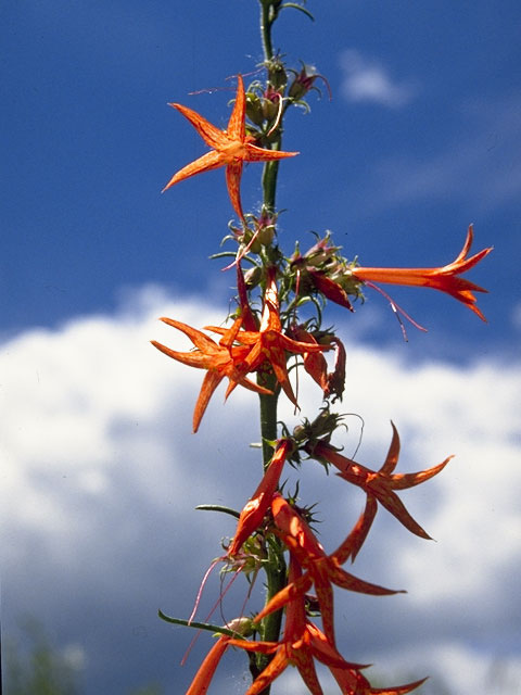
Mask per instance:
[[[293,442],[290,439],[279,440],[277,443],[275,454],[264,473],[263,480],[253,493],[253,497],[250,502],[246,502],[241,511],[233,541],[227,552],[229,557],[236,555],[241,549],[244,541],[260,526],[277,491],[282,468],[292,446]]]

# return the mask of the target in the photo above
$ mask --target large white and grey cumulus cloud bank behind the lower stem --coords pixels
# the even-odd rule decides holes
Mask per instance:
[[[4,614],[9,624],[33,612],[62,635],[63,648],[74,644],[91,674],[88,693],[123,692],[122,684],[144,673],[144,681],[171,682],[173,671],[177,690],[167,692],[177,693],[206,648],[201,640],[180,670],[171,655],[188,639],[165,630],[155,610],[188,615],[220,538],[232,533],[229,518],[193,507],[240,507],[256,485],[257,456],[249,448],[258,440],[255,396],[237,389],[223,407],[219,391],[192,435],[203,375],[148,341],[188,349],[157,316],[204,326],[224,313],[149,288],[115,315],[27,330],[1,346]],[[428,669],[453,679],[458,695],[479,692],[475,680],[457,680],[458,668],[468,671],[481,659],[480,668],[492,669],[503,659],[517,672],[520,664],[520,365],[496,357],[462,368],[432,361],[410,367],[370,345],[348,344],[348,355],[344,409],[365,420],[357,460],[381,464],[391,417],[402,435],[402,471],[456,458],[436,479],[403,493],[437,543],[408,534],[384,510],[377,516],[353,571],[409,593],[339,593],[339,640],[347,658],[380,661],[379,673],[395,664],[395,649],[409,657],[397,677]],[[303,414],[319,406],[304,378],[300,400]],[[289,424],[298,419],[289,405],[281,415]],[[352,455],[360,420],[346,421],[339,443]],[[361,492],[312,463],[301,491],[305,503],[321,503],[320,529],[334,546],[359,514]],[[218,582],[208,589],[209,604],[215,592]],[[226,666],[221,692],[242,692],[242,677],[230,691],[224,673]]]

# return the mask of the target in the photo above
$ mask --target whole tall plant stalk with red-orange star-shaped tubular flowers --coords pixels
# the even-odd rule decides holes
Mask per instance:
[[[271,684],[288,666],[297,668],[310,693],[321,695],[316,660],[330,669],[344,695],[402,695],[417,688],[423,680],[376,688],[363,672],[365,667],[342,654],[342,645],[335,639],[333,587],[374,596],[397,593],[347,572],[344,565],[355,560],[379,507],[384,507],[411,533],[430,538],[407,511],[398,493],[441,472],[450,456],[419,472],[395,472],[399,437],[394,425],[389,453],[381,466],[368,467],[346,457],[332,444],[333,435],[343,427],[342,413],[332,408],[342,401],[347,355],[335,331],[325,321],[325,311],[328,302],[334,302],[348,316],[366,287],[378,289],[374,283],[393,283],[446,292],[484,320],[474,293],[485,290],[461,276],[491,249],[469,255],[473,238],[470,226],[460,254],[443,267],[364,267],[344,257],[329,232],[317,237],[305,252],[301,252],[298,243],[289,255],[282,251],[277,235],[278,170],[282,160],[298,154],[282,149],[284,117],[295,105],[307,108],[306,97],[317,89],[317,80],[323,80],[328,89],[329,85],[306,65],[288,66],[272,48],[272,30],[279,15],[298,11],[310,17],[308,10],[296,2],[259,0],[259,11],[263,78],[245,88],[242,76],[237,76],[227,129],[217,128],[185,105],[170,104],[196,129],[209,152],[178,170],[164,190],[196,174],[225,168],[231,207],[238,219],[226,237],[233,244],[232,251],[217,256],[231,256],[227,270],[237,277],[234,311],[228,316],[227,326],[225,321],[203,329],[175,318],[162,318],[189,338],[193,343],[189,352],[152,342],[168,357],[205,370],[193,413],[194,432],[225,378],[226,397],[238,386],[258,396],[263,457],[254,473],[257,482],[252,484],[252,496],[240,513],[211,505],[203,508],[237,516],[234,535],[218,561],[247,578],[264,573],[265,604],[254,606],[250,616],[239,615],[224,627],[196,622],[193,615],[189,620],[160,615],[169,622],[211,630],[217,635],[187,695],[207,692],[220,659],[231,647],[243,650],[249,658],[252,684],[245,695],[268,695]],[[263,203],[255,213],[244,213],[241,202],[244,162],[263,163]],[[298,162],[284,166],[297,167]],[[291,203],[284,201],[284,206],[291,208]],[[255,308],[257,305],[259,309]],[[397,309],[394,304],[393,308]],[[298,408],[289,378],[292,364],[317,382],[322,397],[317,399],[317,412],[303,416],[302,422],[290,430],[279,422],[277,404],[282,396]],[[364,510],[338,548],[329,548],[327,539],[323,545],[317,539],[313,529],[314,505],[306,506],[296,495],[281,490],[284,466],[300,467],[304,458],[315,460],[325,472],[333,468],[338,484],[346,481],[365,493]]]

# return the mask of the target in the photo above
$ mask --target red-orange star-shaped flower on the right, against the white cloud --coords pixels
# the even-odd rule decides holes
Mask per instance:
[[[326,442],[318,442],[312,453],[312,456],[316,456],[322,460],[333,464],[333,466],[336,466],[341,471],[338,473],[341,478],[347,480],[354,485],[358,485],[367,494],[366,510],[363,518],[360,518],[364,530],[360,531],[359,538],[350,553],[353,559],[369,532],[369,528],[374,519],[377,514],[377,500],[411,533],[416,533],[416,535],[419,535],[422,539],[431,538],[410,516],[405,508],[404,503],[399,500],[394,490],[406,490],[407,488],[419,485],[425,480],[433,478],[436,473],[443,470],[443,468],[445,468],[453,456],[448,456],[437,466],[433,466],[432,468],[428,468],[427,470],[421,470],[416,473],[393,473],[398,462],[399,437],[394,424],[391,422],[391,425],[393,428],[393,439],[391,440],[385,462],[378,471],[370,470],[369,468],[357,464],[355,460],[347,458],[346,456],[342,456],[335,448],[333,448],[333,446]]]

